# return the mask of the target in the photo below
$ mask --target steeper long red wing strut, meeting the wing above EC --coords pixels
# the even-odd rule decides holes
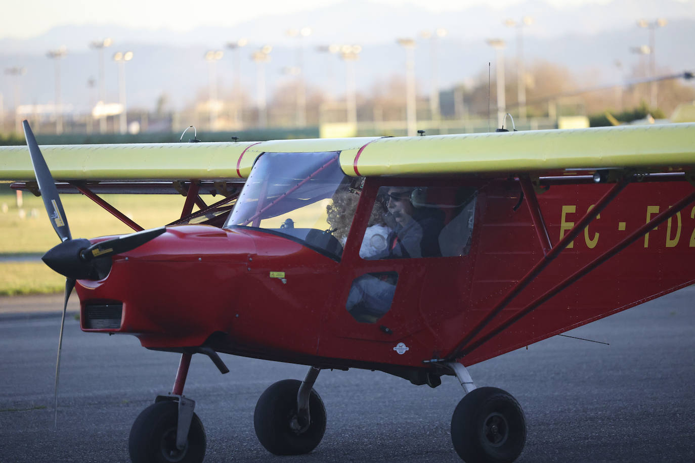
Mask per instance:
[[[550,262],[553,262],[555,258],[559,255],[560,252],[562,252],[563,249],[565,249],[573,240],[578,237],[580,233],[582,233],[582,230],[584,228],[587,228],[589,223],[596,218],[598,214],[611,202],[613,199],[615,199],[616,196],[625,188],[629,183],[630,180],[632,180],[632,176],[623,176],[618,183],[616,183],[606,194],[603,195],[603,198],[601,198],[597,203],[594,208],[591,210],[587,211],[587,214],[582,217],[580,221],[578,221],[574,228],[569,230],[569,233],[565,235],[559,243],[557,243],[555,246],[553,246],[553,249],[550,249],[546,255],[543,256],[543,258],[536,264],[534,267],[526,273],[526,275],[521,278],[521,280],[516,283],[512,289],[507,292],[507,294],[502,297],[502,300],[487,314],[480,322],[477,323],[477,325],[470,331],[468,332],[468,335],[464,337],[464,339],[457,344],[457,346],[452,350],[452,354],[447,356],[448,360],[455,359],[456,357],[460,357],[459,352],[463,350],[463,348],[471,342],[486,326],[489,325],[489,323],[500,313],[502,310],[509,305],[510,302],[518,294],[520,294],[525,287],[527,287],[533,280],[536,278],[543,269],[548,267],[548,264]],[[533,196],[535,198],[534,191],[531,189],[530,191],[530,196]],[[530,206],[531,207],[531,206]]]

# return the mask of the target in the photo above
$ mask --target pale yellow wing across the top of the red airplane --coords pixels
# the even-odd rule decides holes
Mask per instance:
[[[263,152],[341,151],[351,176],[689,171],[695,124],[268,142],[42,146],[56,180],[232,180]],[[25,146],[0,147],[0,180],[33,180]]]

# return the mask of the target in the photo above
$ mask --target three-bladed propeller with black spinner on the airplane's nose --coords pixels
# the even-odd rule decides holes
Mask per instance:
[[[65,280],[65,303],[63,304],[63,319],[60,321],[60,336],[58,337],[58,359],[56,360],[56,392],[55,392],[55,418],[54,424],[58,426],[58,377],[60,374],[60,351],[63,348],[63,327],[65,326],[65,312],[70,293],[75,287],[76,280],[99,280],[106,276],[111,269],[111,259],[106,259],[113,254],[120,254],[136,249],[150,239],[165,232],[165,228],[153,228],[142,230],[122,237],[107,239],[92,244],[88,239],[72,239],[70,227],[67,225],[67,217],[60,202],[56,183],[51,176],[51,171],[46,165],[46,160],[39,149],[28,121],[23,121],[24,137],[31,155],[31,165],[39,186],[39,192],[43,199],[46,212],[51,219],[51,225],[60,238],[60,244],[50,249],[41,258],[51,269],[67,277]]]

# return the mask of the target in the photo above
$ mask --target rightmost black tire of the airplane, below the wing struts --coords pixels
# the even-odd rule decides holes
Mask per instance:
[[[465,462],[513,462],[526,443],[526,419],[521,406],[502,389],[474,389],[454,410],[451,441]]]

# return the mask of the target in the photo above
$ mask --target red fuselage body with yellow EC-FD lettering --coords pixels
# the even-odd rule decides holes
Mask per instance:
[[[336,367],[400,365],[451,353],[466,332],[543,257],[514,180],[477,181],[468,255],[363,260],[359,242],[381,185],[450,185],[457,180],[368,179],[342,258],[254,228],[174,226],[113,259],[104,280],[79,280],[85,331],[136,335],[142,346],[176,351],[213,336],[218,351]],[[461,180],[461,184],[464,181]],[[552,244],[610,185],[555,185],[539,195]],[[687,182],[626,187],[500,314],[507,319],[692,191]],[[695,281],[694,212],[685,210],[464,357],[473,364],[624,310]],[[695,211],[695,209],[694,209]],[[393,305],[377,323],[345,310],[351,282],[398,272]],[[120,328],[88,328],[85,310],[122,303]],[[493,329],[491,323],[480,336]],[[407,351],[398,352],[399,343]]]

